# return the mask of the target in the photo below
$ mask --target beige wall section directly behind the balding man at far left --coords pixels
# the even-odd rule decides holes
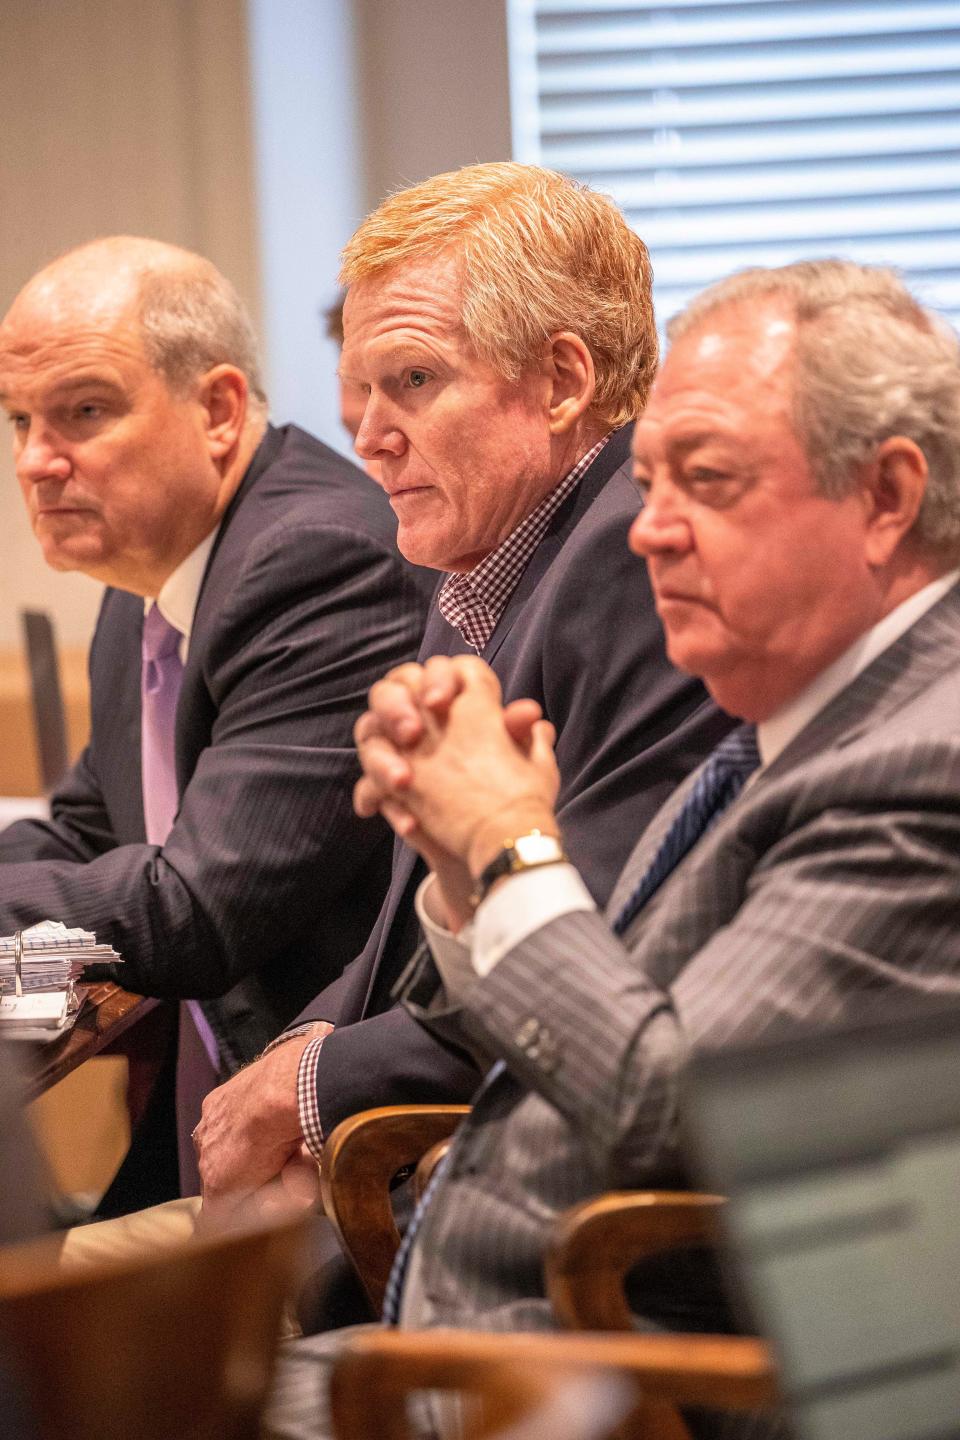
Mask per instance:
[[[259,302],[243,0],[4,4],[0,307],[46,259],[127,230],[203,251]],[[99,588],[39,559],[0,442],[0,648],[42,605],[82,644]]]

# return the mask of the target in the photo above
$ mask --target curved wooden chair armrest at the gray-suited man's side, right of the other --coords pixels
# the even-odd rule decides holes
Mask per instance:
[[[720,1195],[688,1191],[613,1191],[566,1211],[544,1260],[547,1296],[560,1325],[574,1331],[629,1331],[628,1272],[651,1256],[715,1244]]]

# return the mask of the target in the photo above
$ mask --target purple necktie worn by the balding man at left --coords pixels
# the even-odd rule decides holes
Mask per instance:
[[[183,681],[181,639],[180,631],[164,619],[154,602],[144,618],[140,675],[140,762],[144,825],[151,845],[166,842],[180,804],[174,723]],[[187,1001],[180,1007],[177,1050],[177,1148],[183,1195],[200,1191],[191,1132],[200,1120],[203,1097],[219,1074],[220,1054],[213,1031],[197,1001]]]

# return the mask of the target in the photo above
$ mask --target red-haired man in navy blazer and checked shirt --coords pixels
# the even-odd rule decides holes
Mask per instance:
[[[563,176],[469,166],[387,199],[347,245],[341,282],[357,452],[379,465],[400,550],[446,572],[420,654],[482,655],[510,698],[550,717],[566,842],[603,901],[628,835],[730,723],[669,665],[623,539],[626,422],[656,364],[646,248]],[[472,1057],[391,1004],[420,876],[399,847],[364,952],[207,1097],[204,1202],[243,1201],[304,1142],[320,1156],[370,1104],[474,1093]]]

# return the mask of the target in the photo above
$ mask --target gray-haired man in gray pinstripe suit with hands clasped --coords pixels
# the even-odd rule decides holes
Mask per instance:
[[[560,852],[535,707],[504,710],[474,657],[374,687],[356,802],[433,871],[406,1005],[494,1061],[387,1318],[551,1328],[558,1212],[684,1184],[691,1053],[960,996],[959,458],[957,338],[889,272],[753,271],[674,324],[633,438],[630,547],[671,658],[746,723],[653,818],[606,917]],[[534,832],[554,852],[517,870],[505,848]],[[645,1280],[642,1325],[730,1325],[697,1259]],[[331,1348],[288,1349],[271,1436],[328,1433]]]

